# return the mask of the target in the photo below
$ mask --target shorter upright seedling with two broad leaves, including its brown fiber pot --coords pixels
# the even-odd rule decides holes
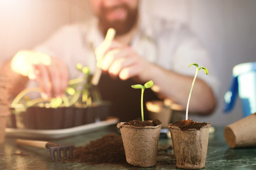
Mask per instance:
[[[153,85],[153,81],[146,82],[144,86],[132,85],[134,89],[142,89],[142,119],[117,124],[122,135],[127,163],[134,166],[149,167],[156,164],[161,122],[159,120],[144,120],[143,110],[144,90]]]

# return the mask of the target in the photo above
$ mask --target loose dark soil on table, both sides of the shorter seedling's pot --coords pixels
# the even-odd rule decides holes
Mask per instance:
[[[171,147],[162,146],[158,150],[157,164],[175,164],[174,154],[169,154]],[[114,133],[91,141],[83,147],[75,147],[73,159],[70,162],[84,162],[86,164],[122,164],[131,166],[126,162],[122,137]]]

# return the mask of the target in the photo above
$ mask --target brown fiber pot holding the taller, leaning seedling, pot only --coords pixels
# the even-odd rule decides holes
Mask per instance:
[[[180,169],[203,169],[206,166],[210,123],[200,130],[181,130],[172,124],[169,124],[169,128],[176,166]]]

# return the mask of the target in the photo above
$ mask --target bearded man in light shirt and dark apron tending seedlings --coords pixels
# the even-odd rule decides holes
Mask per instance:
[[[31,54],[36,62],[26,60],[29,52],[14,57],[12,66],[20,64],[17,61],[28,65],[24,73],[16,70],[23,74],[23,77],[16,75],[19,79],[36,79],[46,98],[61,96],[68,79],[75,77],[75,64],[80,62],[95,72],[95,50],[100,50],[100,68],[105,72],[99,84],[102,96],[114,101],[113,115],[129,120],[139,117],[140,93],[130,87],[135,83],[154,81],[154,93],[146,91],[145,96],[149,93],[146,101],[169,98],[185,108],[195,70],[188,69],[188,65],[196,62],[209,70],[209,77],[198,75],[190,111],[201,115],[214,111],[218,90],[214,71],[206,50],[186,26],[143,16],[138,0],[91,0],[90,4],[96,18],[58,30],[34,49],[42,52]],[[110,47],[105,47],[102,42],[108,28],[114,28],[117,34]]]

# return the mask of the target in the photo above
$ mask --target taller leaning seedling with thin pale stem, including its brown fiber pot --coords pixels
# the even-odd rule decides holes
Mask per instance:
[[[208,74],[208,70],[205,67],[199,68],[198,64],[195,63],[188,67],[191,65],[196,66],[196,74],[188,96],[186,120],[171,123],[169,128],[174,146],[176,166],[181,169],[202,169],[206,165],[210,123],[197,123],[189,120],[188,105],[198,71],[203,69]]]

